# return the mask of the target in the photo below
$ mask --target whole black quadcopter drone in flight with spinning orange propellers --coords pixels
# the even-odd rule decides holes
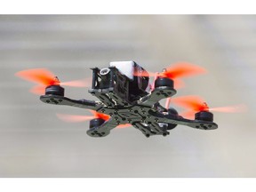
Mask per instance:
[[[42,94],[40,100],[52,105],[90,109],[93,116],[61,115],[62,120],[79,122],[90,120],[87,134],[92,137],[105,137],[116,127],[133,126],[146,137],[169,135],[178,124],[200,130],[214,130],[218,124],[213,122],[211,111],[230,112],[234,108],[209,108],[197,96],[172,97],[176,87],[182,86],[180,78],[205,73],[205,69],[186,62],[180,62],[160,73],[152,73],[134,61],[110,62],[108,68],[92,69],[92,87],[89,89],[99,100],[73,100],[65,96],[62,86],[85,86],[83,81],[60,83],[57,76],[45,68],[23,70],[16,73],[25,80],[36,83],[30,91]],[[149,77],[154,76],[153,84]],[[165,106],[160,100],[166,99]],[[189,108],[187,115],[178,114],[170,103]],[[186,114],[186,113],[185,113]]]

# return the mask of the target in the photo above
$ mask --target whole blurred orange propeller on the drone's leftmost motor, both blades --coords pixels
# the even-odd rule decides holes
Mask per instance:
[[[15,76],[19,76],[22,79],[36,83],[37,85],[30,90],[30,92],[33,92],[35,94],[44,94],[45,87],[50,85],[88,87],[91,84],[91,79],[89,78],[84,80],[76,80],[76,81],[60,83],[60,80],[58,79],[58,77],[54,76],[54,74],[46,68],[32,68],[28,70],[22,70],[16,73]]]

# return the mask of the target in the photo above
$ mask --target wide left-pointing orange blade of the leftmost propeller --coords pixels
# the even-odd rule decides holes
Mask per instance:
[[[43,84],[43,85],[53,85],[60,84],[59,80],[55,78],[51,71],[46,68],[32,68],[28,70],[22,70],[15,74],[27,81]]]

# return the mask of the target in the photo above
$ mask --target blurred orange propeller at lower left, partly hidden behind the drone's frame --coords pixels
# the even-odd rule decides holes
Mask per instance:
[[[94,110],[90,110],[90,112],[92,113],[93,116],[75,116],[75,115],[66,115],[66,114],[57,114],[57,116],[65,122],[68,123],[79,123],[79,122],[85,122],[85,121],[89,121],[92,120],[94,118],[100,118],[103,119],[105,121],[107,121],[110,116],[106,115],[106,114],[101,114],[98,113]],[[124,127],[128,127],[128,126],[132,126],[131,124],[119,124],[118,128],[124,128]]]

